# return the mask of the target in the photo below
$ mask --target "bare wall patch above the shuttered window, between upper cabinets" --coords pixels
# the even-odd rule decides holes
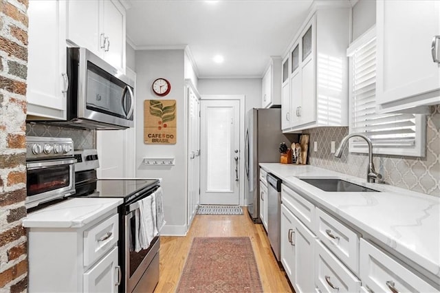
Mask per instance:
[[[359,0],[353,6],[353,39],[369,30],[376,23],[376,1]]]

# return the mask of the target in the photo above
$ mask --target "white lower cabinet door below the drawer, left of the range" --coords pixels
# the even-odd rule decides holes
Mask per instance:
[[[84,273],[84,292],[118,292],[121,277],[118,274],[118,247],[115,247]]]

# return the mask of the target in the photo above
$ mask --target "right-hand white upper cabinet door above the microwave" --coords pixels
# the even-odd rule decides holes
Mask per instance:
[[[101,34],[107,38],[104,44],[104,60],[125,72],[125,10],[116,1],[103,1]]]

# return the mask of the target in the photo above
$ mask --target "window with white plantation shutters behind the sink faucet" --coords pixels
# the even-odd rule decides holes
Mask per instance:
[[[370,30],[347,50],[350,57],[350,133],[362,133],[373,143],[373,153],[423,156],[425,117],[412,113],[376,111],[376,38]],[[350,140],[350,151],[366,153],[366,142]]]

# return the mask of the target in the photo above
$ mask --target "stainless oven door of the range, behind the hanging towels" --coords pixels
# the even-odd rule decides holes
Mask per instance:
[[[125,290],[124,292],[153,292],[159,281],[159,237],[151,241],[147,249],[135,252],[135,213],[138,204],[130,204],[125,215]],[[136,287],[138,283],[142,286]]]

